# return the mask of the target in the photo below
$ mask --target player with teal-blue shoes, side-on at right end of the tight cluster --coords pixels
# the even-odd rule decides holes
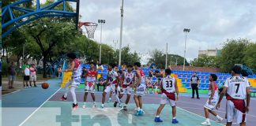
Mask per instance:
[[[141,63],[135,62],[134,68],[136,70],[136,81],[135,81],[135,93],[134,93],[134,102],[137,106],[137,112],[135,113],[136,116],[143,115],[142,109],[142,96],[145,94],[146,83],[145,83],[145,74],[141,69]]]

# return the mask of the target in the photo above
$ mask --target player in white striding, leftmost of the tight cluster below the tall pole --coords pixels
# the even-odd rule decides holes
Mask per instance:
[[[115,64],[110,64],[107,67],[107,69],[108,69],[107,82],[106,82],[107,87],[104,90],[104,93],[102,94],[101,108],[104,108],[105,98],[106,98],[107,93],[109,93],[109,92],[112,92],[113,95],[115,95],[115,98],[117,98],[117,100],[119,100],[118,95],[115,94],[115,87],[119,82],[118,74],[114,70],[115,66],[116,66]]]

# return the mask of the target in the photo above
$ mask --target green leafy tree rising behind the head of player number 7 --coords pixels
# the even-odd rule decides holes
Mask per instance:
[[[220,57],[218,57],[220,69],[223,72],[230,72],[233,65],[245,64],[243,57],[245,57],[244,52],[248,45],[248,39],[228,39],[221,50]]]

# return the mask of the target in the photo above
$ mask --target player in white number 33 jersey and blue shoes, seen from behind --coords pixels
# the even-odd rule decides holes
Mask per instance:
[[[179,90],[175,77],[171,76],[171,69],[165,69],[164,79],[160,82],[160,90],[162,91],[160,106],[156,111],[155,122],[163,122],[160,119],[160,113],[166,103],[169,103],[172,108],[172,124],[177,124],[179,121],[176,119],[176,101],[179,99]],[[175,98],[175,93],[177,97]]]

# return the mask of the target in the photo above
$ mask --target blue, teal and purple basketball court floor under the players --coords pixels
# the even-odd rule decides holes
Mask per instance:
[[[49,80],[50,87],[43,90],[41,87],[28,88],[14,92],[9,95],[2,96],[2,122],[3,125],[59,125],[59,126],[80,126],[80,125],[170,125],[171,124],[171,106],[165,106],[160,117],[164,120],[163,123],[155,123],[156,109],[159,106],[160,95],[145,95],[144,116],[134,116],[134,100],[131,98],[128,104],[128,111],[120,111],[121,108],[113,107],[113,102],[106,103],[105,108],[100,108],[101,92],[96,93],[96,108],[92,108],[92,104],[88,103],[87,108],[81,106],[75,110],[71,110],[72,98],[69,95],[67,102],[59,101],[63,94],[63,89],[59,88],[60,80]],[[77,100],[79,105],[83,105],[84,91],[77,89]],[[107,95],[108,96],[108,95]],[[18,100],[21,99],[22,100]],[[115,99],[115,98],[112,98]],[[177,105],[177,119],[180,126],[200,125],[205,120],[203,105],[206,98],[190,99],[190,95],[182,94]],[[89,102],[92,102],[88,95]],[[122,98],[124,101],[125,98]],[[256,102],[253,99],[251,105]],[[8,107],[5,107],[8,106]],[[250,114],[247,117],[247,124],[256,123],[256,109],[251,107]],[[221,117],[224,117],[225,109],[222,102],[221,109],[218,111]],[[215,118],[211,117],[212,120]],[[211,121],[212,125],[223,125]]]

